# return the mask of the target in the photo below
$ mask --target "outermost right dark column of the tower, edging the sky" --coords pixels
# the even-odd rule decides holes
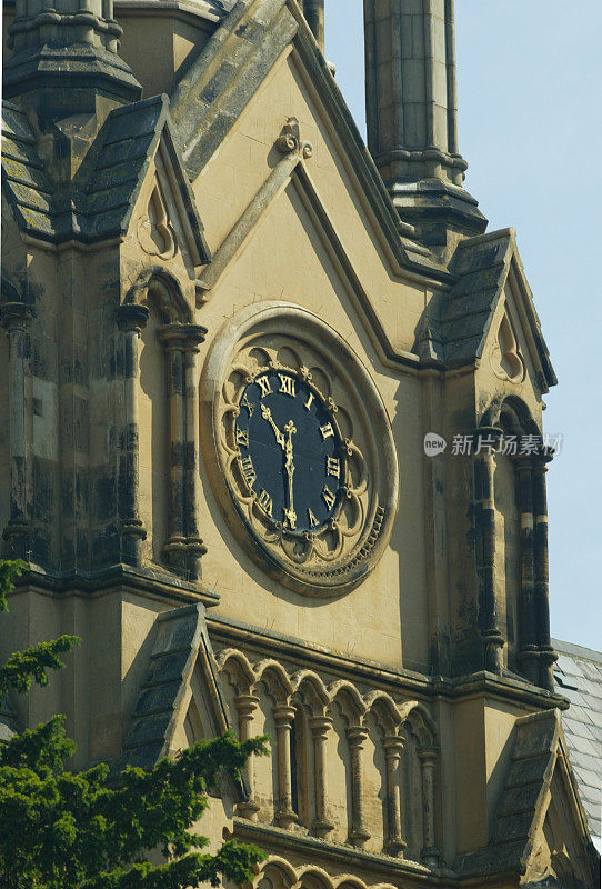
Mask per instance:
[[[540,685],[554,690],[554,663],[558,656],[550,640],[550,590],[548,571],[548,498],[545,492],[545,463],[552,458],[544,456],[533,468],[533,515],[535,545],[535,616],[540,650]]]

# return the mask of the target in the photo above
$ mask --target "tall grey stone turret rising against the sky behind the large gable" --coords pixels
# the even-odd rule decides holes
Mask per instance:
[[[433,243],[484,231],[462,188],[453,0],[364,0],[364,23],[368,144],[400,214]]]

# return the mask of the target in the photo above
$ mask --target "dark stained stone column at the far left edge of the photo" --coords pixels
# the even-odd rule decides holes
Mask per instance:
[[[9,444],[10,444],[10,518],[3,538],[10,556],[29,561],[31,467],[28,436],[31,414],[31,368],[29,326],[33,314],[24,302],[4,302],[0,308],[2,327],[9,338]],[[29,439],[29,440],[28,440]]]

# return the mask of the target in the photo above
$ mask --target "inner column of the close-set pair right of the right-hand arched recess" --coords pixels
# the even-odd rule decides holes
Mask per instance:
[[[521,521],[521,669],[530,682],[539,682],[539,648],[535,622],[535,566],[533,549],[533,476],[529,459],[516,461]]]

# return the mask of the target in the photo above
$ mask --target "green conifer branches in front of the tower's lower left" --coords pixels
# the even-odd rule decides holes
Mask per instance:
[[[4,602],[18,573],[6,565]],[[13,655],[0,668],[0,688],[47,685],[47,670],[62,667],[58,655],[77,641],[61,637]],[[240,743],[227,732],[152,769],[113,775],[106,765],[68,771],[73,752],[61,716],[0,746],[2,889],[185,889],[218,886],[220,877],[240,885],[263,859],[257,847],[235,841],[215,855],[203,852],[208,840],[193,828],[207,809],[208,788],[221,775],[239,780],[247,758],[267,752],[265,738]],[[162,863],[152,863],[159,852]]]

